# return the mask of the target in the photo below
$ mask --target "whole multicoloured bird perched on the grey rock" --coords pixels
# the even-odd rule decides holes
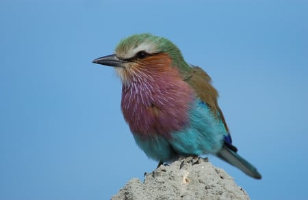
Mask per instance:
[[[122,82],[125,121],[137,145],[159,165],[213,154],[261,179],[232,143],[210,76],[187,63],[170,40],[133,34],[120,40],[114,54],[92,63],[114,67]]]

